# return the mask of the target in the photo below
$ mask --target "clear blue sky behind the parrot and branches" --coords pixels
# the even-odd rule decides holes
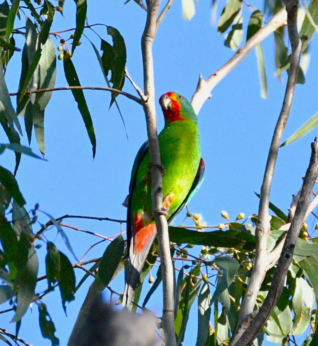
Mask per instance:
[[[218,15],[224,6],[218,3]],[[253,2],[260,10],[263,4]],[[249,18],[249,10],[244,7],[244,37]],[[75,5],[66,1],[64,19],[59,13],[54,20],[51,31],[63,30],[75,26]],[[117,28],[125,39],[127,48],[127,69],[141,88],[143,85],[140,39],[144,27],[145,12],[133,1],[124,5],[124,1],[95,1],[88,3],[88,23],[103,23]],[[24,26],[24,18],[16,22],[16,26]],[[95,27],[99,35],[111,42],[105,27]],[[86,29],[85,34],[99,47],[98,37]],[[317,36],[317,33],[315,34]],[[68,38],[68,35],[63,36]],[[55,39],[53,42],[56,43]],[[244,39],[243,39],[244,40]],[[106,86],[90,43],[83,37],[81,46],[77,47],[72,61],[76,67],[81,85]],[[199,1],[196,15],[191,21],[182,18],[181,2],[175,1],[160,26],[154,41],[154,77],[156,85],[158,129],[163,127],[163,117],[158,103],[161,94],[177,91],[187,99],[191,99],[198,76],[210,76],[222,66],[233,54],[224,47],[216,26],[211,23],[210,2]],[[23,43],[17,46],[22,47]],[[254,191],[260,191],[268,148],[272,133],[279,115],[285,91],[287,75],[283,74],[282,82],[272,75],[275,72],[273,37],[263,42],[265,64],[268,81],[267,99],[260,98],[255,52],[239,64],[212,91],[212,98],[207,100],[201,109],[198,120],[201,130],[202,156],[205,160],[206,174],[204,183],[189,204],[189,210],[203,215],[209,225],[223,222],[221,210],[226,210],[231,220],[244,212],[250,216],[258,211],[258,198]],[[317,52],[317,37],[311,44],[311,52]],[[18,88],[21,53],[16,52],[6,74],[9,92]],[[311,55],[306,84],[297,85],[290,119],[286,126],[283,140],[289,138],[304,122],[317,113],[318,97],[318,56]],[[56,86],[66,86],[62,62],[57,62]],[[135,94],[129,81],[126,80],[124,90]],[[126,209],[121,205],[128,191],[130,172],[136,152],[146,140],[144,113],[141,106],[123,96],[117,101],[121,108],[129,140],[126,138],[122,120],[115,107],[108,111],[110,94],[105,91],[85,91],[87,104],[96,131],[97,149],[95,160],[92,160],[91,145],[85,126],[70,91],[53,92],[51,102],[45,111],[45,143],[47,162],[24,156],[17,173],[17,180],[27,209],[39,203],[40,210],[54,217],[65,214],[110,217],[125,219]],[[15,104],[15,98],[12,98]],[[23,125],[23,119],[21,119]],[[289,146],[280,150],[271,201],[287,213],[292,200],[301,186],[301,177],[305,174],[310,157],[310,143],[317,135],[313,130]],[[1,142],[7,138],[2,132]],[[24,137],[21,140],[27,144]],[[33,134],[31,147],[38,153]],[[5,152],[1,156],[1,165],[14,170],[14,155]],[[175,225],[182,222],[183,211]],[[42,223],[47,217],[39,212]],[[187,221],[186,221],[187,222]],[[313,221],[311,221],[313,222]],[[65,219],[70,224],[82,229],[111,236],[120,232],[118,224],[92,220]],[[316,224],[316,222],[315,222]],[[308,223],[313,229],[312,223]],[[40,226],[36,225],[34,231]],[[80,258],[90,244],[98,241],[93,236],[64,228],[70,242]],[[68,252],[60,236],[53,228],[45,233],[48,240],[55,242],[60,251]],[[87,256],[101,256],[105,243],[96,246]],[[199,249],[198,249],[199,251]],[[40,256],[40,275],[45,273],[45,244],[38,251]],[[83,275],[76,271],[77,281]],[[67,343],[72,326],[85,298],[91,280],[80,288],[76,300],[67,307],[68,317],[64,315],[60,302],[60,293],[55,291],[46,296],[44,302],[55,323],[56,336],[61,345]],[[37,290],[45,289],[46,283]],[[123,276],[120,276],[112,288],[122,292]],[[147,291],[147,290],[146,290]],[[106,296],[108,293],[106,293]],[[160,296],[150,301],[149,307],[160,314]],[[38,330],[38,314],[34,307],[29,310],[22,321],[20,337],[33,345],[50,345],[43,340]],[[190,323],[196,322],[196,311],[193,307]],[[2,315],[1,326],[14,334],[15,326],[6,324],[7,316]],[[184,346],[193,345],[196,340],[196,329],[188,330]]]

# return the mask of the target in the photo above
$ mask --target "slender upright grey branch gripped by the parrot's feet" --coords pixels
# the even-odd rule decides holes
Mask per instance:
[[[147,0],[147,20],[142,34],[141,49],[144,73],[144,94],[148,97],[144,103],[147,122],[147,135],[151,160],[151,202],[152,214],[158,232],[159,254],[163,285],[162,327],[167,346],[176,345],[174,329],[174,290],[173,266],[170,257],[168,224],[166,217],[159,213],[162,208],[162,175],[160,170],[160,151],[157,132],[156,107],[154,102],[154,76],[152,44],[156,35],[157,14],[160,0]]]

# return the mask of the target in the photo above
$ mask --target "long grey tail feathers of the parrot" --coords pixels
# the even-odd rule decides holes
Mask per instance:
[[[138,253],[134,253],[134,244],[133,244],[134,242],[132,241],[130,244],[128,270],[126,271],[126,276],[125,276],[126,283],[125,283],[125,291],[123,295],[123,308],[124,307],[129,308],[131,305],[131,302],[134,299],[135,290],[137,288],[139,278],[140,278],[140,273],[142,271],[143,265],[146,261],[148,253],[150,251],[150,247],[156,235],[157,235],[157,231],[155,231],[152,234],[147,244]]]

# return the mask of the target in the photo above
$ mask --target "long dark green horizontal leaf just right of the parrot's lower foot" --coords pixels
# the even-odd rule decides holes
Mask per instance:
[[[248,233],[244,227],[228,231],[198,232],[169,226],[169,238],[174,243],[208,245],[215,248],[253,249],[255,247],[255,237]]]

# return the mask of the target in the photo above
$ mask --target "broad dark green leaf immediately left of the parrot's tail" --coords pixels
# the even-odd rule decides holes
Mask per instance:
[[[124,253],[125,241],[120,235],[109,244],[101,258],[98,277],[107,286],[116,272]]]

